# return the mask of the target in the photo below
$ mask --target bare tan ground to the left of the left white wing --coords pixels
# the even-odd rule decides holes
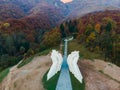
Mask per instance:
[[[39,56],[20,69],[14,66],[2,82],[0,90],[44,90],[42,77],[50,65],[50,56]]]

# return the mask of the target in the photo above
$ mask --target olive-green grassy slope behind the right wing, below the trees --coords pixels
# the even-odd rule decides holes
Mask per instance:
[[[83,59],[104,59],[102,54],[90,52],[83,44],[78,44],[76,40],[70,41],[68,43],[68,53],[75,50],[80,51],[80,58]]]

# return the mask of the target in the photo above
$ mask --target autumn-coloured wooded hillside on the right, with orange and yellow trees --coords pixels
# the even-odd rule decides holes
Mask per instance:
[[[101,53],[104,59],[120,66],[120,11],[89,13],[69,20],[58,29],[62,38],[73,35],[89,51]]]

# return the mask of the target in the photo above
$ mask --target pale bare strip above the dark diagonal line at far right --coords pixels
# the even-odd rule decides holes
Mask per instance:
[[[91,64],[95,67],[96,70],[102,71],[104,74],[107,74],[111,78],[120,82],[120,67],[98,59],[94,60],[94,62]]]

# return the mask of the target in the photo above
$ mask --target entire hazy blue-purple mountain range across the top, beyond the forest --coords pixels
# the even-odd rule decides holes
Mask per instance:
[[[22,19],[36,28],[48,29],[62,20],[119,9],[120,0],[73,0],[66,4],[60,0],[0,0],[0,21]]]

